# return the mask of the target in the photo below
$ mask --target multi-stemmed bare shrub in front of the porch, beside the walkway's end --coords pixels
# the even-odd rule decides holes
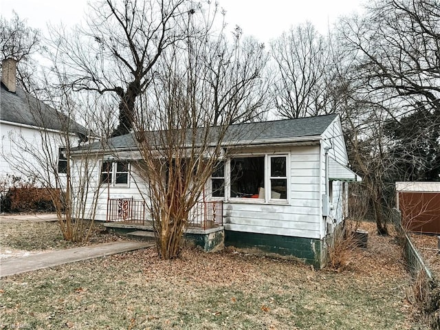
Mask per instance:
[[[214,58],[207,55],[216,54],[212,49],[219,50],[224,40],[211,36],[208,20],[188,20],[186,33],[187,38],[169,47],[158,61],[155,84],[140,99],[135,120],[141,158],[137,171],[148,182],[140,192],[153,219],[162,259],[179,255],[190,210],[203,199],[206,182],[227,153],[226,134],[239,138],[241,132],[229,132],[230,124],[254,119],[255,108],[243,106],[249,102],[248,92],[243,91],[252,90],[259,79],[254,74],[239,76],[234,61],[223,63],[221,71],[219,62],[213,64]],[[217,80],[212,74],[223,75],[229,69],[232,77],[236,75],[232,85],[240,83],[229,89],[213,88]],[[227,104],[219,106],[219,100],[226,98]]]

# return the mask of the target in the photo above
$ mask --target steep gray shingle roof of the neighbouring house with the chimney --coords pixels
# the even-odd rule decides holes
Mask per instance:
[[[67,126],[68,118],[60,111],[56,111],[19,87],[15,93],[11,93],[3,83],[0,94],[0,120],[56,131],[65,131],[68,127],[72,133],[87,135],[87,130],[72,120]]]

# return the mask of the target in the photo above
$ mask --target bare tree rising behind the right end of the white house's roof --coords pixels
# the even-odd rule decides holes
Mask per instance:
[[[284,118],[325,112],[325,39],[311,23],[298,25],[272,43],[278,80],[273,87],[274,105]]]

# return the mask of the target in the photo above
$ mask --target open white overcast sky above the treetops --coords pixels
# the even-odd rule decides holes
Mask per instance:
[[[360,12],[364,0],[219,0],[226,10],[228,30],[240,25],[244,34],[268,42],[292,25],[311,21],[322,34],[341,15]],[[1,15],[10,19],[15,10],[32,28],[44,32],[47,23],[79,23],[87,0],[1,0]]]

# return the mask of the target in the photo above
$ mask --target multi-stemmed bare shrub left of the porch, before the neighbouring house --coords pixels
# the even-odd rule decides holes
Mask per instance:
[[[52,75],[46,80],[45,103],[17,90],[16,99],[23,100],[20,106],[27,108],[21,113],[27,120],[32,118],[34,129],[23,126],[9,131],[11,145],[5,148],[3,157],[15,173],[32,179],[50,195],[64,239],[87,241],[96,208],[86,206],[98,198],[94,176],[99,156],[83,146],[82,156],[72,162],[72,149],[98,138],[78,124],[96,122],[96,104],[89,100],[81,104],[72,89],[63,84],[63,78],[54,64]],[[80,107],[87,111],[80,111]]]

